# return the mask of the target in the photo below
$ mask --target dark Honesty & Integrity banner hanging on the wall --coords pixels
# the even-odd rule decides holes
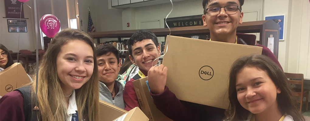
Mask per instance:
[[[5,14],[7,18],[21,18],[24,19],[24,7],[21,2],[17,0],[4,0]]]

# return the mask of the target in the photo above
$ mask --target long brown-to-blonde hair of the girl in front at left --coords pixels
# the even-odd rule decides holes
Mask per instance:
[[[89,44],[93,50],[94,70],[89,81],[80,89],[75,90],[78,119],[98,121],[99,86],[96,52],[91,36],[81,30],[64,29],[52,39],[47,52],[42,57],[38,71],[38,95],[35,95],[36,80],[32,82],[32,98],[38,100],[39,118],[43,121],[64,121],[67,119],[67,108],[64,104],[64,94],[61,81],[56,71],[56,58],[63,45],[69,41],[81,40]]]

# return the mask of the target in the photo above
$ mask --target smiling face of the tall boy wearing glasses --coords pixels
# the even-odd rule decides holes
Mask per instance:
[[[217,6],[236,5],[240,7],[239,0],[210,0],[206,8]],[[243,12],[240,10],[236,14],[226,14],[224,8],[221,8],[219,15],[210,16],[208,13],[202,15],[203,26],[208,27],[210,36],[219,39],[212,39],[216,41],[227,42],[229,39],[223,37],[236,36],[237,27],[242,24]]]

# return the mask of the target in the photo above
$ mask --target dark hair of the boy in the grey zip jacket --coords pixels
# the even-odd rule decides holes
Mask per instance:
[[[116,56],[117,64],[119,64],[119,52],[113,44],[102,44],[96,47],[97,57],[105,54],[113,53]]]

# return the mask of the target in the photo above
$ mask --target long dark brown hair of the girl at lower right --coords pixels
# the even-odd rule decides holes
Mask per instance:
[[[291,115],[294,121],[304,121],[305,119],[295,105],[296,100],[291,93],[291,87],[282,69],[269,57],[264,55],[245,56],[237,59],[230,69],[228,98],[230,101],[228,116],[225,120],[239,121],[246,120],[250,111],[241,106],[237,99],[236,77],[245,67],[256,67],[265,71],[273,83],[280,88],[281,93],[277,94],[278,108],[281,113]]]

